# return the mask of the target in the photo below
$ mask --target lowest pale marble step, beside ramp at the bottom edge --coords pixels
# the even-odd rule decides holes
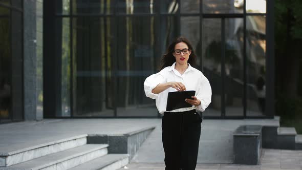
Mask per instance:
[[[71,168],[72,170],[115,170],[119,169],[129,163],[128,154],[108,154],[102,157],[96,158],[89,162],[83,163],[76,167]]]

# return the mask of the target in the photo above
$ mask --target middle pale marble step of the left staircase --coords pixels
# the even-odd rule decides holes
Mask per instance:
[[[68,169],[106,155],[107,147],[108,144],[85,144],[9,167],[0,167],[0,170]]]

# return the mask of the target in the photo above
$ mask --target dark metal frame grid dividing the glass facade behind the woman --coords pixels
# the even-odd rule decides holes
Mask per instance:
[[[72,20],[74,17],[111,17],[113,18],[113,74],[112,74],[112,79],[113,79],[113,86],[114,89],[117,88],[117,65],[114,61],[116,61],[117,59],[117,17],[140,17],[140,16],[148,16],[148,17],[154,17],[155,18],[155,32],[157,34],[159,34],[159,30],[160,30],[160,18],[163,16],[176,16],[178,19],[178,22],[180,23],[180,18],[183,16],[199,16],[200,17],[200,25],[199,25],[199,29],[200,29],[200,40],[202,41],[202,35],[203,35],[203,30],[202,30],[202,24],[203,24],[203,18],[221,18],[222,22],[221,22],[221,26],[222,26],[222,98],[221,98],[221,103],[222,103],[222,111],[221,111],[221,116],[204,116],[205,118],[211,118],[211,119],[242,119],[242,118],[272,118],[273,115],[269,115],[269,116],[247,116],[246,111],[247,111],[247,59],[246,59],[246,17],[247,16],[267,16],[266,19],[266,30],[270,30],[272,29],[271,27],[273,27],[273,5],[274,2],[273,1],[267,1],[267,11],[266,13],[247,13],[246,12],[246,0],[244,0],[244,7],[243,7],[243,13],[218,13],[218,14],[213,14],[213,13],[203,13],[203,0],[200,0],[200,13],[181,13],[181,0],[177,0],[177,3],[179,4],[179,9],[177,11],[177,13],[162,13],[159,10],[159,2],[160,0],[155,0],[154,4],[155,4],[155,12],[152,14],[149,13],[135,13],[135,14],[125,14],[125,13],[117,13],[117,3],[114,0],[113,4],[113,13],[111,14],[73,14],[73,9],[72,9],[72,2],[70,2],[70,13],[69,14],[59,14],[55,12],[55,17],[69,17],[70,18],[70,50],[71,50],[71,65],[73,65],[73,36],[72,36],[72,30],[73,30],[73,23]],[[243,80],[244,80],[244,87],[243,87],[243,116],[227,116],[225,114],[225,19],[226,18],[243,18],[244,20],[244,32],[243,32],[243,36],[244,36],[244,44],[243,44],[243,55],[244,55],[244,59],[243,59],[243,69],[244,69],[244,73],[243,73]],[[272,26],[270,26],[269,24],[272,24]],[[180,35],[181,33],[181,28],[177,28],[177,34]],[[269,39],[270,38],[270,39]],[[157,36],[155,38],[155,44],[158,44],[158,42],[160,41],[159,36]],[[267,78],[267,85],[269,85],[269,87],[273,87],[273,83],[274,83],[274,66],[273,66],[273,62],[274,59],[273,57],[267,57],[268,55],[274,55],[273,53],[273,32],[271,31],[267,31],[266,32],[266,47],[267,47],[267,53],[266,53],[266,67],[268,68],[268,72],[266,73],[266,78]],[[202,44],[200,44],[200,49],[202,50]],[[159,53],[162,49],[161,47],[158,47],[155,49],[157,53]],[[272,50],[272,51],[270,51]],[[200,56],[201,60],[200,60],[200,64],[201,64],[201,70],[203,71],[204,69],[204,65],[203,65],[203,55]],[[71,75],[73,75],[73,66],[71,66]],[[71,118],[159,118],[160,114],[158,113],[156,116],[118,116],[117,115],[117,106],[114,103],[113,107],[114,107],[114,115],[111,116],[97,116],[97,117],[75,117],[73,115],[74,112],[74,108],[73,108],[73,76],[71,76]],[[113,98],[115,99],[117,97],[116,91],[114,90],[113,92]],[[274,104],[273,104],[273,98],[274,98],[274,92],[273,90],[269,90],[267,91],[267,97],[266,97],[266,102],[268,103],[267,107],[266,107],[266,113],[274,113]],[[268,114],[267,114],[268,115]],[[65,118],[65,117],[60,117],[60,118]],[[70,117],[68,117],[70,118]]]

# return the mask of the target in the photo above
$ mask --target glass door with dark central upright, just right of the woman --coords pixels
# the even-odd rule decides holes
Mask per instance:
[[[243,18],[204,18],[202,26],[203,73],[212,87],[204,116],[242,118]]]

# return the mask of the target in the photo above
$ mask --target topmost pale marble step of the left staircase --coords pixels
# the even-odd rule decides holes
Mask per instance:
[[[43,143],[8,153],[0,152],[0,167],[32,160],[48,154],[61,152],[87,143],[87,134]]]

